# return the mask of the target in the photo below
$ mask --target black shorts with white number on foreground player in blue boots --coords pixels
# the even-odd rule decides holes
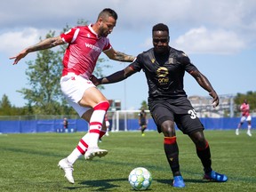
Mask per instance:
[[[196,111],[187,97],[179,97],[175,100],[148,100],[148,107],[158,132],[162,132],[161,124],[166,120],[175,122],[184,134],[189,135],[193,132],[204,130],[204,125],[196,116]]]

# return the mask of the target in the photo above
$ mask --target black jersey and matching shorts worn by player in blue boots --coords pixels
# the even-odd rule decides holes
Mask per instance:
[[[174,121],[188,135],[204,130],[184,91],[185,72],[197,70],[184,52],[170,47],[169,54],[157,55],[152,48],[139,54],[130,68],[142,69],[147,77],[148,107],[158,132],[166,120]]]

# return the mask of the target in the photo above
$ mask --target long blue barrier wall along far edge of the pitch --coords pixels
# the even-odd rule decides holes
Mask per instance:
[[[205,130],[231,130],[236,129],[240,117],[233,118],[201,118]],[[63,131],[63,120],[20,120],[20,121],[0,121],[0,132],[2,133],[28,133],[28,132],[57,132]],[[112,121],[110,120],[110,126]],[[243,128],[247,127],[244,123]],[[252,129],[256,127],[256,117],[252,117]],[[75,132],[87,132],[88,123],[83,119],[68,120],[68,128]],[[128,131],[139,130],[138,119],[128,119]],[[119,122],[119,130],[124,131],[124,120]],[[156,124],[153,119],[148,120],[148,130],[156,131]]]

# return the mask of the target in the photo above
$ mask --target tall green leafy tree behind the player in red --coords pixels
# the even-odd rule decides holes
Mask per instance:
[[[45,37],[55,36],[50,31]],[[40,38],[41,40],[41,38]],[[30,88],[23,88],[20,92],[28,105],[33,106],[36,114],[60,114],[60,103],[64,98],[60,91],[61,51],[46,49],[36,52],[36,60],[28,61],[28,84]]]

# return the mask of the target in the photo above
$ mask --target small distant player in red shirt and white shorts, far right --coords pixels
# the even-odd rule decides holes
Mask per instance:
[[[250,115],[250,105],[248,104],[247,100],[244,100],[244,103],[240,106],[240,110],[242,112],[242,116],[240,119],[240,123],[238,124],[236,128],[236,135],[239,135],[239,129],[241,128],[242,124],[244,124],[244,121],[246,120],[248,126],[247,126],[247,135],[252,137],[252,116]]]

